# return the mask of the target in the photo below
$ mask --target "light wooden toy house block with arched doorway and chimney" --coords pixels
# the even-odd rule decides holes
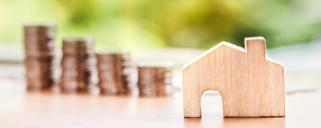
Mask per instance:
[[[220,93],[225,117],[285,115],[284,71],[266,57],[263,37],[245,38],[245,49],[221,42],[183,68],[184,117],[201,117],[201,96]]]

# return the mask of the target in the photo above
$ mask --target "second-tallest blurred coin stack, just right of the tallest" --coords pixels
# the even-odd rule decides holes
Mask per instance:
[[[65,38],[62,42],[61,90],[62,92],[88,91],[95,86],[93,72],[96,57],[94,39]]]

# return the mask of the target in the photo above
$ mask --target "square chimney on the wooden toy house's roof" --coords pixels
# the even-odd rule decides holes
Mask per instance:
[[[254,60],[265,61],[265,39],[263,37],[245,38],[247,54]]]

